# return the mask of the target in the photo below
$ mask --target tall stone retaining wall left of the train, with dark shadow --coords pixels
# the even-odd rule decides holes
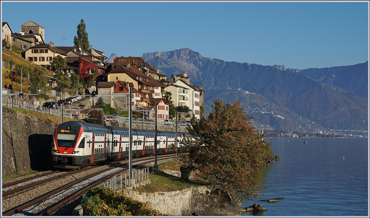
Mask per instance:
[[[3,108],[3,175],[47,170],[56,124]]]

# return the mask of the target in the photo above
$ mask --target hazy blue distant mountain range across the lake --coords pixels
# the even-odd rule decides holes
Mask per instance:
[[[190,49],[142,58],[169,77],[186,71],[192,83],[203,85],[205,115],[214,99],[240,100],[255,122],[277,130],[367,130],[367,62],[297,70],[225,62]]]

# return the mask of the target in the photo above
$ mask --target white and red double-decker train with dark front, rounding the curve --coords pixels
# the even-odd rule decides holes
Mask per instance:
[[[176,152],[184,132],[157,131],[157,154]],[[55,129],[51,160],[55,168],[79,169],[88,165],[127,159],[129,129],[68,121]],[[155,131],[132,129],[132,157],[155,154]],[[178,143],[178,151],[179,148]]]

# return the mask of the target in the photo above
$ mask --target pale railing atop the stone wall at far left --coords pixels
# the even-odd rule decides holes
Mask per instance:
[[[61,110],[51,109],[51,108],[45,108],[42,106],[34,105],[25,101],[12,99],[12,98],[3,98],[2,100],[3,106],[9,106],[9,107],[16,107],[16,108],[23,108],[30,111],[36,111],[41,113],[47,113],[55,116],[61,116],[62,112]],[[63,113],[63,117],[69,118],[69,113]]]

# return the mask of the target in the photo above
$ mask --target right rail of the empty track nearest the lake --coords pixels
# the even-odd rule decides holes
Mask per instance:
[[[168,157],[168,158],[161,158],[160,160],[165,160],[165,159],[170,159],[170,158],[173,158],[173,157]],[[139,166],[139,165],[144,165],[144,164],[148,164],[152,161],[147,161],[147,162],[144,162],[144,163],[141,163],[141,164],[137,164],[135,166]],[[104,178],[101,178],[99,179],[98,181],[94,182],[93,184],[87,186],[86,188],[78,191],[78,192],[75,192],[75,194],[72,194],[70,196],[68,196],[67,198],[64,199],[64,201],[60,202],[59,204],[55,205],[54,207],[48,209],[47,211],[43,212],[42,214],[40,214],[39,216],[47,216],[49,214],[51,214],[52,212],[56,211],[57,209],[59,209],[60,207],[63,207],[63,205],[65,204],[68,204],[70,201],[72,201],[73,199],[76,199],[78,198],[80,195],[84,194],[85,192],[87,192],[88,189],[91,189],[92,187],[96,186],[96,185],[99,185],[101,182],[105,181],[106,179],[109,179],[121,172],[124,172],[128,170],[128,167],[127,168],[124,168],[124,169],[121,169],[120,171],[117,171],[111,175],[108,175],[108,176],[105,176]]]

